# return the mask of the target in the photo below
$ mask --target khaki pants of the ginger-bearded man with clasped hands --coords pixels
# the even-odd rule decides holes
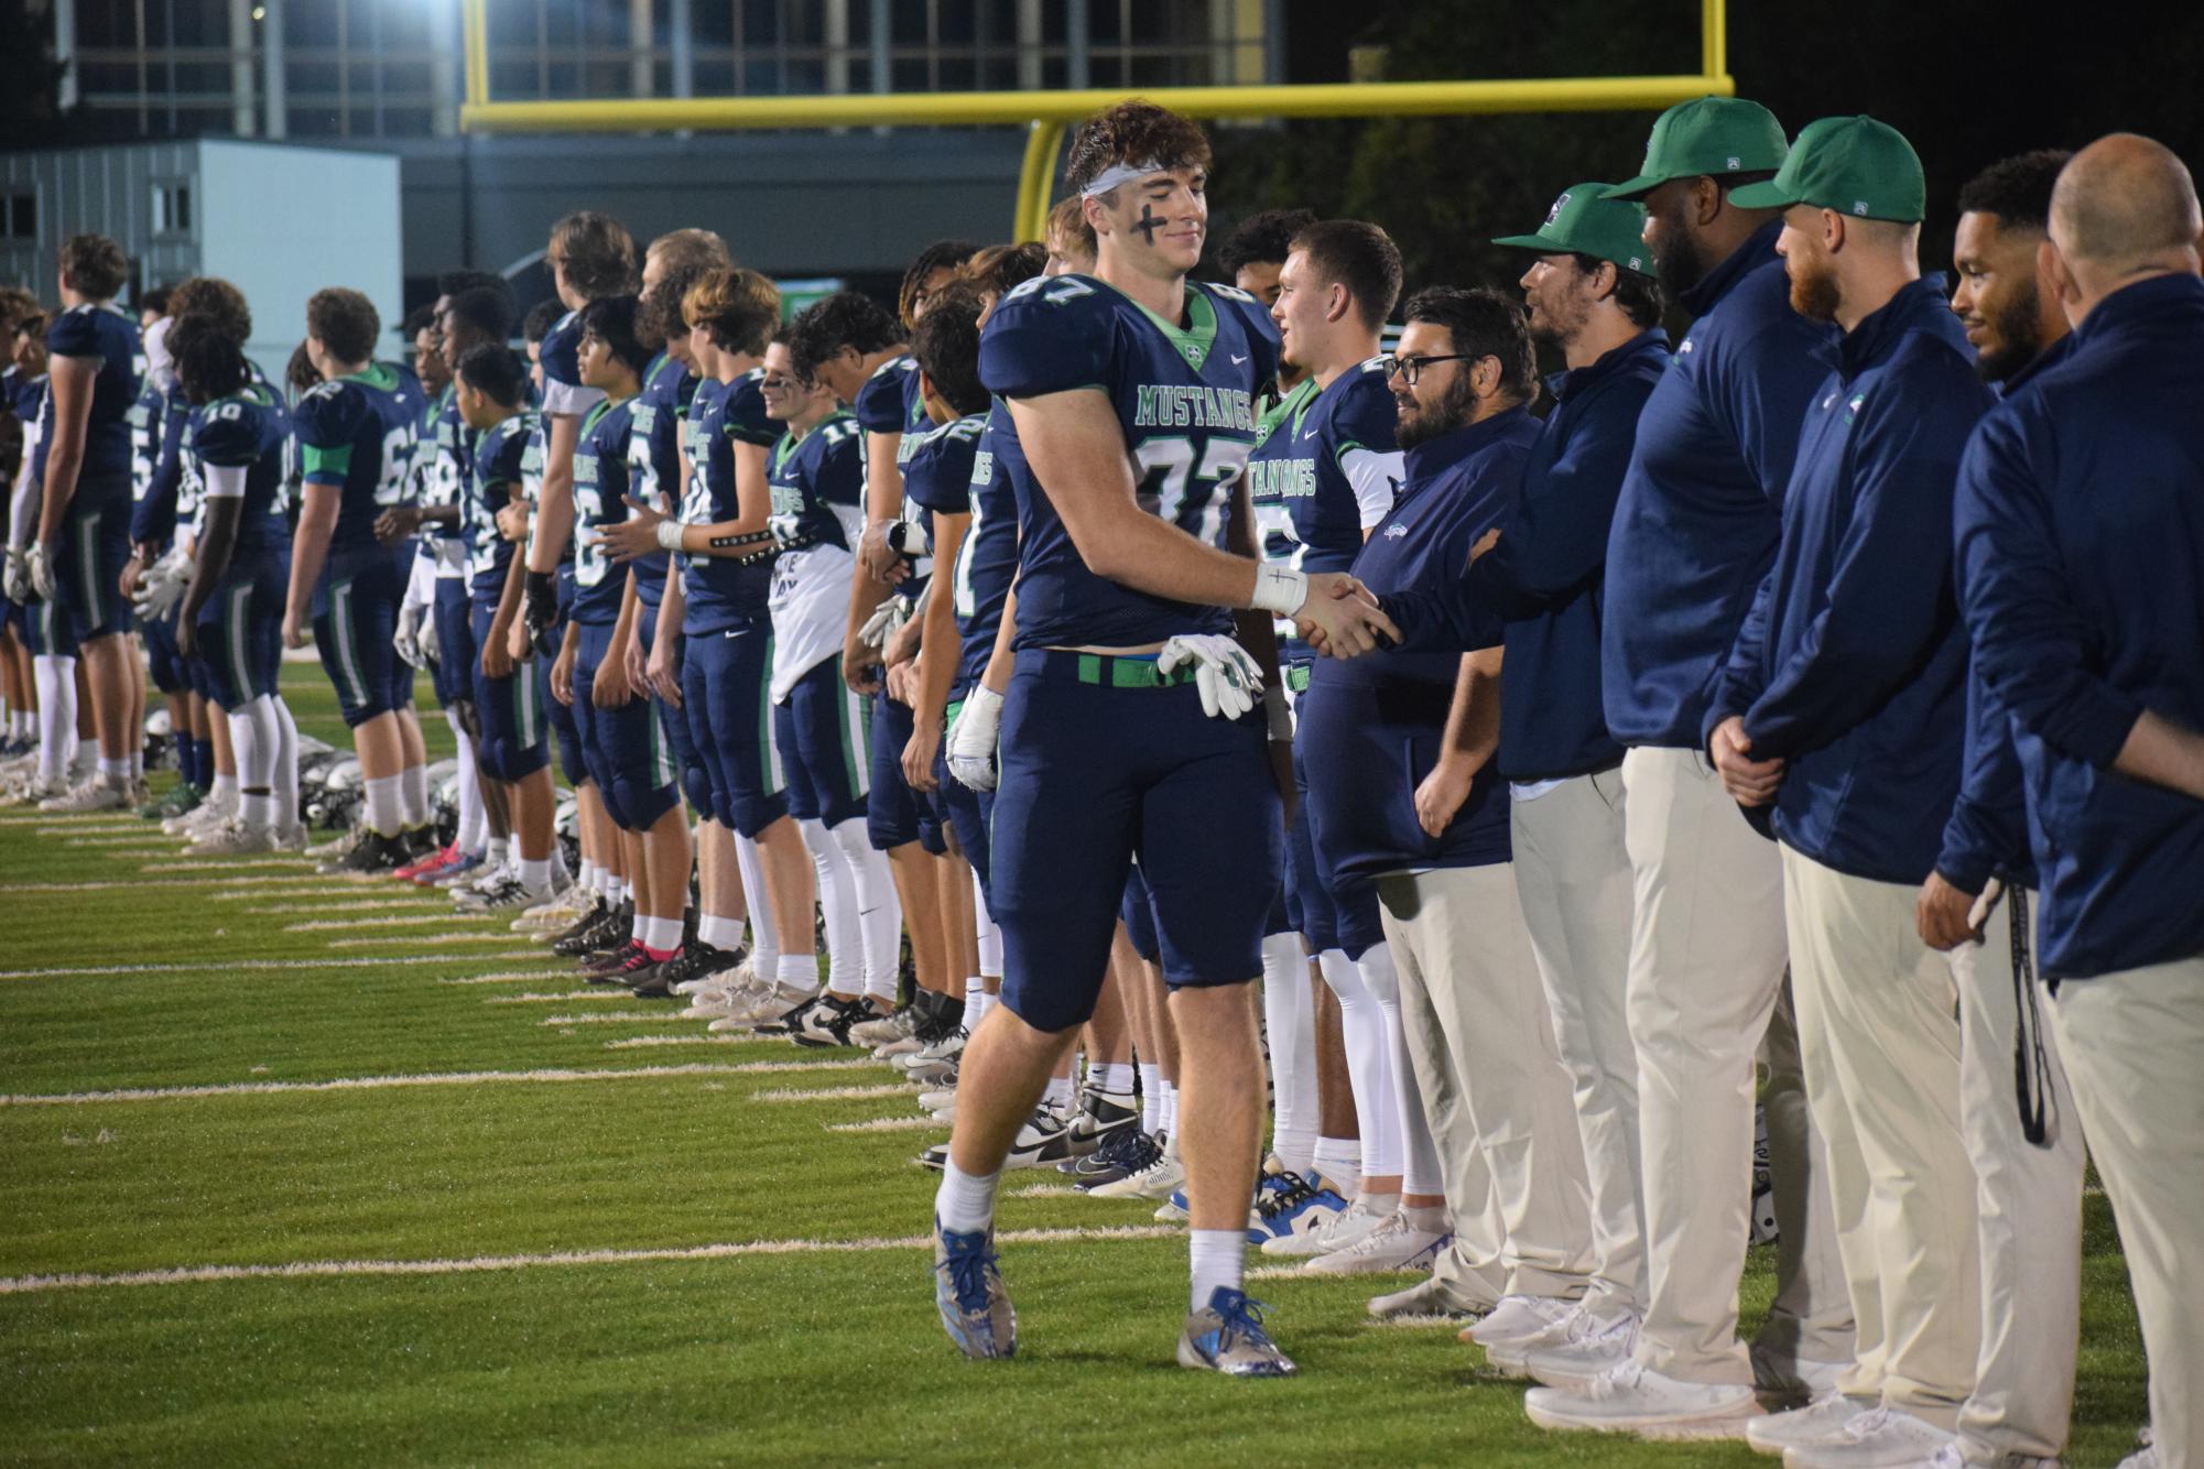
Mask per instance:
[[[1798,1046],[1858,1324],[1838,1388],[1953,1429],[1975,1388],[1981,1255],[1959,989],[1913,927],[1915,896],[1783,848]]]

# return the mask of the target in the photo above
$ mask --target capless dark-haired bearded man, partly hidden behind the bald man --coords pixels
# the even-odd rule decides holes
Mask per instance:
[[[2025,152],[1959,189],[1951,308],[1975,370],[2006,399],[2063,361],[2074,341],[2041,260],[2052,185],[2070,156]],[[1975,1390],[1937,1469],[2056,1460],[2074,1407],[2083,1139],[2028,962],[2039,947],[2039,890],[2012,727],[1973,663],[1959,799],[1915,912],[1922,940],[1953,951],[1959,967],[1959,1125],[1975,1161],[1981,1251]]]

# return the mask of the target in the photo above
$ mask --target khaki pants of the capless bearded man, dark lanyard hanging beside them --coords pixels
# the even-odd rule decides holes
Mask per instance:
[[[1975,1392],[1959,1410],[1959,1449],[1970,1465],[2003,1465],[2008,1456],[2059,1458],[2065,1451],[2081,1337],[2081,1117],[2045,1013],[2030,1026],[2030,1037],[2043,1044],[2048,1145],[2039,1147],[2021,1132],[2012,1077],[2012,1044],[2021,1026],[2012,989],[2014,927],[2034,951],[2034,894],[2008,892],[1990,914],[1984,940],[1953,954],[1959,973],[1959,1123],[1966,1128],[1966,1154],[1975,1161],[1981,1251],[1981,1354]],[[2050,1002],[2041,991],[2039,1000]]]

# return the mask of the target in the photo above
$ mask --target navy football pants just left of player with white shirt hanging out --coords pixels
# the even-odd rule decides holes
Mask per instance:
[[[712,771],[712,813],[743,837],[789,815],[774,747],[771,672],[774,625],[763,617],[683,636],[681,711]]]

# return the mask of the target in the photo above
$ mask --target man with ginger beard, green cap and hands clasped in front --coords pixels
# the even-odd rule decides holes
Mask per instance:
[[[1787,1469],[1926,1460],[1953,1440],[1981,1330],[1957,978],[1913,910],[1959,793],[1951,504],[1990,394],[1942,282],[1920,278],[1922,167],[1893,128],[1812,123],[1774,181],[1737,196],[1785,209],[1792,306],[1843,333],[1708,733],[1739,804],[1774,806],[1798,1044],[1858,1321],[1843,1396],[1746,1434],[1790,1449]]]

